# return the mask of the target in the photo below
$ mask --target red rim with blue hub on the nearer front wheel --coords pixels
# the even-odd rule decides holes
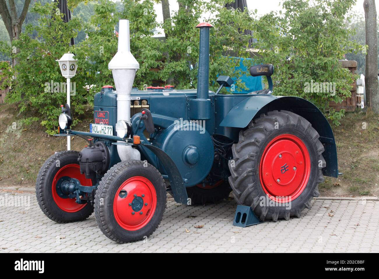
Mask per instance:
[[[157,192],[144,177],[132,177],[121,184],[113,201],[113,213],[117,223],[125,230],[143,228],[154,215]]]

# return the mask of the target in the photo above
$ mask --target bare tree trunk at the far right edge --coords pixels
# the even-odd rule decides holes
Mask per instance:
[[[366,22],[366,106],[371,107],[374,112],[379,113],[378,93],[378,65],[377,65],[377,29],[376,29],[376,7],[375,0],[363,2]]]

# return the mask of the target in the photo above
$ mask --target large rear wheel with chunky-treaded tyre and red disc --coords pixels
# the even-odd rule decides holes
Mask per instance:
[[[261,220],[300,217],[324,181],[324,147],[305,118],[289,111],[260,115],[232,147],[230,186]]]

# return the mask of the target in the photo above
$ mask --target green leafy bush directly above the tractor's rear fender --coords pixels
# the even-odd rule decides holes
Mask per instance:
[[[337,125],[344,111],[330,110],[329,101],[341,102],[351,96],[356,78],[338,60],[345,59],[346,52],[362,51],[361,45],[350,41],[352,31],[345,29],[345,15],[354,3],[286,0],[284,13],[271,12],[256,19],[252,28],[258,39],[254,47],[262,55],[258,59],[275,66],[275,94],[308,99]],[[316,86],[330,83],[335,93]],[[315,90],[307,90],[308,84],[314,84]]]

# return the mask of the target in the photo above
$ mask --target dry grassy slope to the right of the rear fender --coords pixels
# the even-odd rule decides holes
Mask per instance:
[[[343,175],[326,178],[320,195],[379,195],[379,115],[371,110],[346,112],[341,125],[332,129]]]

